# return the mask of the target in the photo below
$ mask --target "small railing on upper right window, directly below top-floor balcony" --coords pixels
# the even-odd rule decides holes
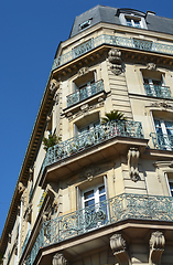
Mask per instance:
[[[144,88],[148,96],[171,98],[169,86],[144,84]]]

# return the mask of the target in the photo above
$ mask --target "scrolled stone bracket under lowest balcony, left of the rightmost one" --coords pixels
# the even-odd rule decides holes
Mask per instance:
[[[113,234],[110,237],[110,248],[120,265],[130,265],[130,257],[127,253],[127,243],[121,234]]]

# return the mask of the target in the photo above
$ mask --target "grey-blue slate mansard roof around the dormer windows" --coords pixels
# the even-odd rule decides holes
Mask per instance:
[[[84,31],[85,29],[82,30],[79,25],[87,20],[90,20],[89,26],[93,26],[99,22],[121,24],[119,20],[119,12],[123,12],[123,13],[131,12],[131,13],[134,13],[136,15],[144,17],[148,25],[148,30],[150,31],[173,34],[173,19],[158,17],[150,12],[143,13],[141,11],[133,10],[133,9],[117,9],[117,8],[110,8],[105,6],[96,6],[93,9],[89,9],[88,11],[75,18],[69,38]],[[88,29],[88,26],[86,29]]]

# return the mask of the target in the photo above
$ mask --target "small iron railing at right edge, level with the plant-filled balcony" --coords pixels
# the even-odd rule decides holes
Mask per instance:
[[[155,149],[173,150],[173,135],[155,134],[151,132],[153,146]]]

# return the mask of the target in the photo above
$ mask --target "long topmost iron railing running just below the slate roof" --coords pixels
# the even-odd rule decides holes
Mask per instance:
[[[140,40],[136,38],[125,38],[125,36],[115,36],[101,34],[97,38],[90,39],[80,45],[74,47],[71,52],[61,55],[54,60],[52,71],[60,67],[61,65],[79,57],[80,55],[98,47],[101,44],[111,44],[115,46],[125,46],[130,49],[138,49],[143,51],[151,51],[155,53],[165,53],[173,55],[173,45],[161,44],[158,42]]]

